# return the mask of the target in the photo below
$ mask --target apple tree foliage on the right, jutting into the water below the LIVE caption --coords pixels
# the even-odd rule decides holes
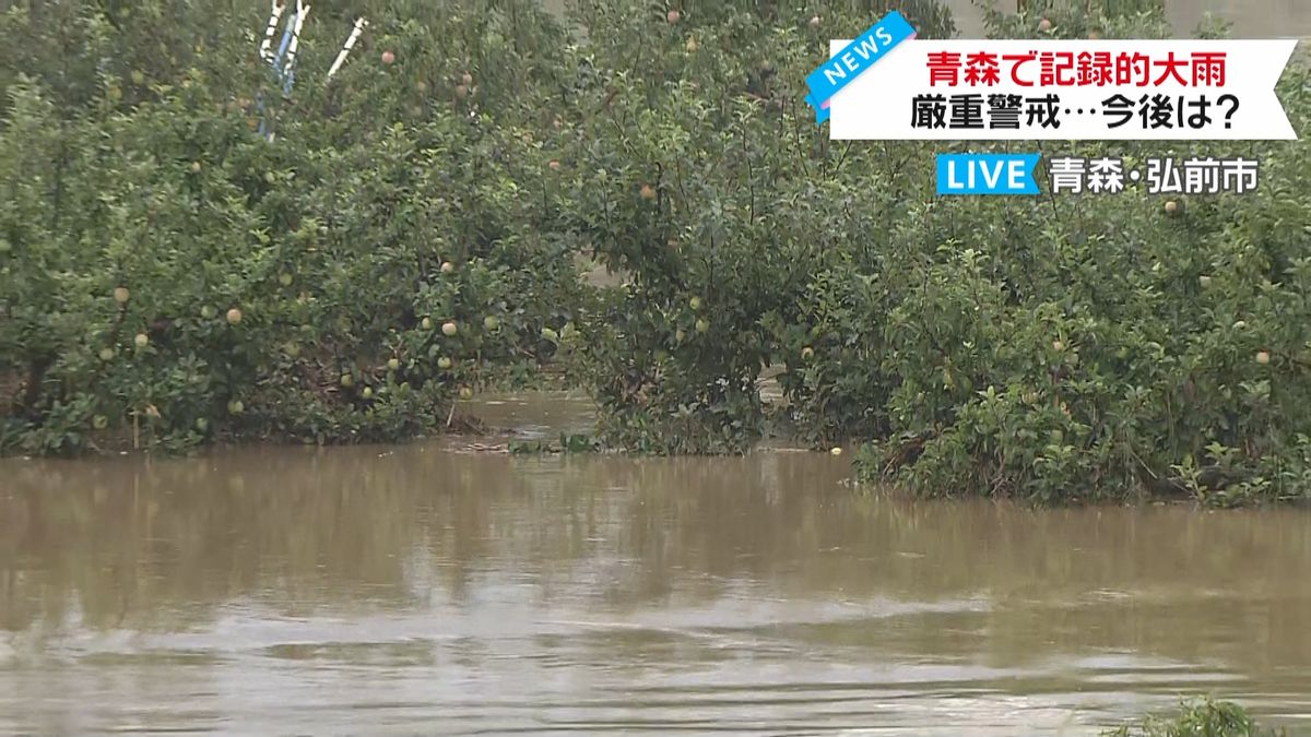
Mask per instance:
[[[1054,17],[1053,33],[1086,30]],[[1303,131],[1307,79],[1294,70],[1281,85]],[[1038,500],[1307,493],[1311,218],[1298,190],[1307,149],[1227,148],[1261,160],[1260,191],[1188,198],[1175,214],[1164,198],[1129,193],[933,203],[937,216],[899,241],[920,261],[881,261],[886,287],[853,321],[886,316],[893,328],[856,336],[895,386],[888,434],[861,459],[865,475],[931,493]],[[1221,153],[1210,144],[1116,151],[1130,161]]]

